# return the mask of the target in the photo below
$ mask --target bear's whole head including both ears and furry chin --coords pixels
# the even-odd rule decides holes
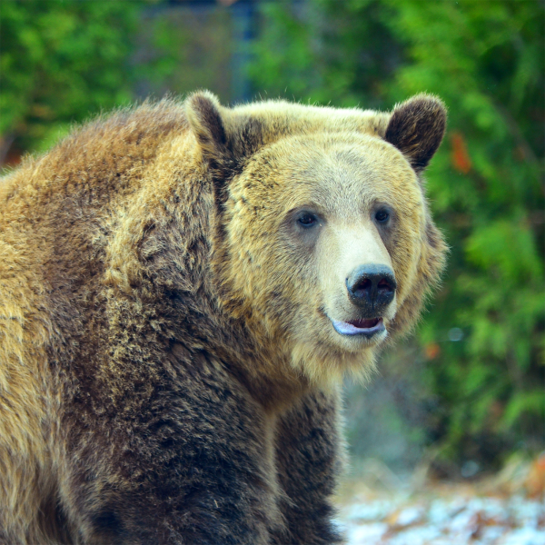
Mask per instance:
[[[421,172],[445,130],[421,94],[391,114],[186,101],[213,180],[223,306],[311,381],[365,374],[416,322],[445,244]]]

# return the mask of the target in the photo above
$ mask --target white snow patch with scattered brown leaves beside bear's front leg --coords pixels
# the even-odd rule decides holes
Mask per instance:
[[[522,496],[360,499],[342,522],[349,545],[545,545],[545,502]]]

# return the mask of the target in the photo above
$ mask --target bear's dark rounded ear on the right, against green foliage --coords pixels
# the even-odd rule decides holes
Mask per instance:
[[[398,104],[391,114],[384,140],[404,154],[421,173],[437,151],[447,124],[447,109],[431,94],[417,94]]]

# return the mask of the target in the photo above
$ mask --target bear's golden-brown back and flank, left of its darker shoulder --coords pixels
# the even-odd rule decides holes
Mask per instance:
[[[67,299],[84,282],[82,275],[93,274],[89,256],[101,222],[120,199],[138,190],[141,173],[160,146],[186,131],[182,105],[142,104],[85,124],[49,153],[25,158],[0,179],[0,468],[5,474],[15,478],[25,467],[45,463],[43,425],[54,411],[46,406],[51,384],[45,346],[61,333],[58,315],[74,320]],[[21,455],[13,458],[9,452]],[[15,461],[22,469],[11,468]],[[33,493],[21,486],[21,496]]]

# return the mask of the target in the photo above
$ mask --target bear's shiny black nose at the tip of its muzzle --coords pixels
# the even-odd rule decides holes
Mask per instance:
[[[365,318],[378,318],[393,300],[397,284],[390,267],[371,264],[356,267],[346,279],[346,287]]]

